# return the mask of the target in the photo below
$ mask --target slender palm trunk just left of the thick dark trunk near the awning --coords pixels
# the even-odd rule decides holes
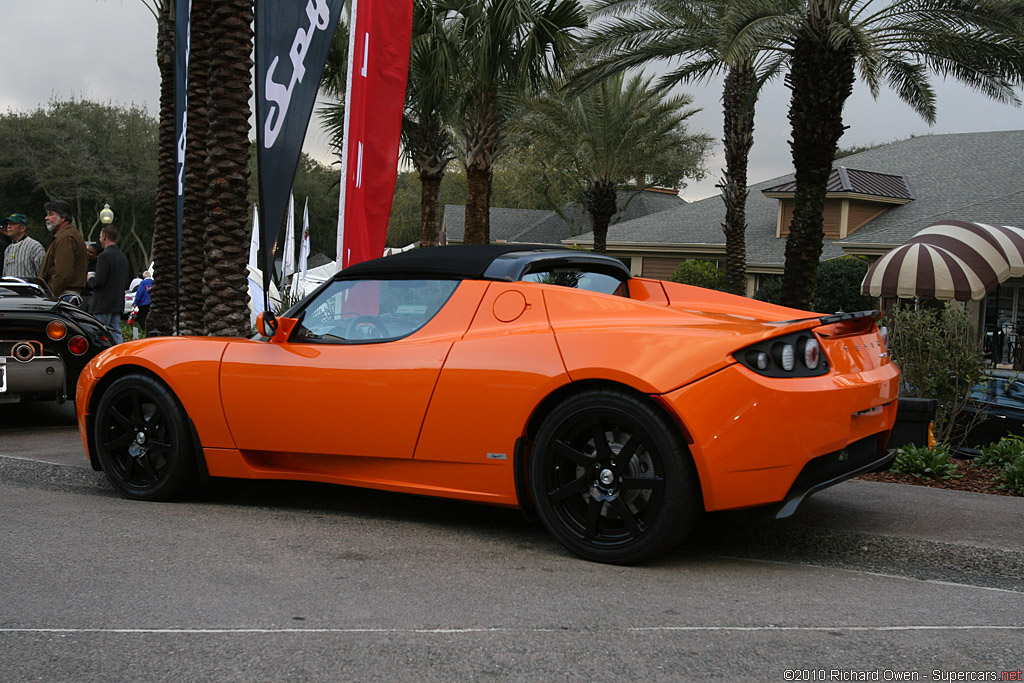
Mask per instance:
[[[754,144],[754,109],[758,98],[757,74],[749,61],[729,70],[722,91],[725,130],[725,279],[733,294],[746,294],[746,166]]]

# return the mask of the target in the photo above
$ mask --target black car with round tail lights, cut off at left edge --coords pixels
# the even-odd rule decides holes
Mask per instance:
[[[74,398],[82,369],[112,345],[98,321],[44,286],[0,278],[0,403]]]

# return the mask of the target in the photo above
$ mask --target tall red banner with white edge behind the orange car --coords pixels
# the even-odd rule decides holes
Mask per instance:
[[[412,0],[353,1],[339,269],[384,254],[413,36]]]

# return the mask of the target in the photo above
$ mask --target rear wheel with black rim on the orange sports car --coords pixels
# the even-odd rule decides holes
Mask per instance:
[[[534,441],[538,514],[588,560],[634,564],[689,535],[703,510],[693,459],[645,397],[589,390],[558,404]]]

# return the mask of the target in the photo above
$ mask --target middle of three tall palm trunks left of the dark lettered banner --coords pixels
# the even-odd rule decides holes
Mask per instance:
[[[185,136],[185,202],[181,234],[182,334],[204,335],[203,271],[206,193],[209,187],[207,154],[210,148],[208,104],[210,98],[211,5],[214,0],[193,0],[191,47],[188,65],[188,129]]]

